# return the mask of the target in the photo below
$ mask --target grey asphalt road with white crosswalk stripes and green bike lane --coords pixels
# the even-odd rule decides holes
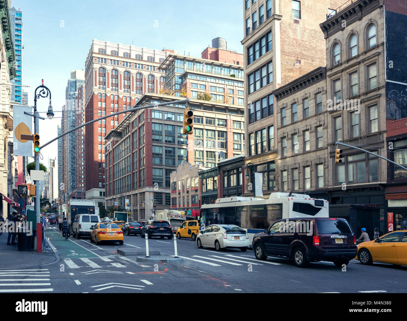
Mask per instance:
[[[1,292],[396,292],[405,293],[407,267],[388,264],[364,266],[352,260],[346,271],[330,262],[297,268],[288,259],[258,261],[253,251],[226,249],[220,252],[197,248],[188,239],[177,240],[177,264],[143,264],[135,257],[120,256],[118,248],[145,250],[145,239],[125,236],[118,243],[94,245],[89,237],[65,241],[56,227],[47,238],[60,261],[29,269],[0,270]],[[153,238],[150,250],[174,254],[174,240]]]

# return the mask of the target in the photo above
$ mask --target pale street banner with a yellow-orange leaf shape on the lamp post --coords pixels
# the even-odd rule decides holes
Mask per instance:
[[[21,139],[21,135],[32,135],[33,117],[24,114],[31,107],[13,105],[13,150],[15,156],[33,157],[33,141]]]

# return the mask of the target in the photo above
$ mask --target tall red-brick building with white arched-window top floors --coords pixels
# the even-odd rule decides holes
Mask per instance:
[[[85,63],[85,121],[128,109],[144,93],[158,94],[164,71],[158,67],[174,50],[140,48],[94,39]],[[85,127],[85,189],[105,191],[105,136],[126,114]]]

